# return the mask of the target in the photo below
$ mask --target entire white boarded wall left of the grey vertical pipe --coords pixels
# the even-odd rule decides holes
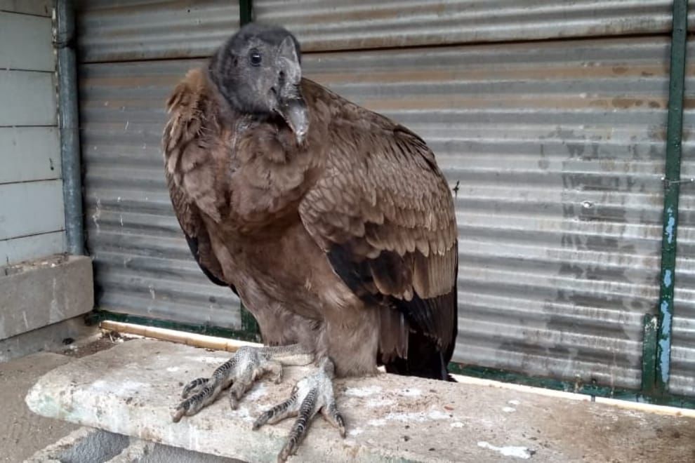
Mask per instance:
[[[0,267],[65,251],[50,0],[0,0]]]

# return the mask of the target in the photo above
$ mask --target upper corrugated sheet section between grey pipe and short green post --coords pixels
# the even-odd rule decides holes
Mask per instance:
[[[238,1],[84,0],[77,14],[82,62],[207,56],[239,29]]]

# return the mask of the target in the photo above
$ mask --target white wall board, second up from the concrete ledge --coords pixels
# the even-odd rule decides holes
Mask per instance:
[[[0,239],[65,229],[62,180],[0,184]]]

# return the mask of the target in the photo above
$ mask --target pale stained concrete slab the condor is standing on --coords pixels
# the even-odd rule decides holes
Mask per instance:
[[[291,426],[251,430],[307,368],[263,381],[232,411],[226,396],[171,422],[183,382],[209,375],[225,352],[133,340],[56,368],[27,395],[46,417],[249,462],[275,461]],[[695,459],[695,418],[475,384],[378,375],[336,383],[348,423],[341,439],[316,420],[295,461],[684,462]]]

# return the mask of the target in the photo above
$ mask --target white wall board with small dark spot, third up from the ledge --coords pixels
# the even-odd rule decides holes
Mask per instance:
[[[0,184],[60,178],[55,127],[0,127]]]

